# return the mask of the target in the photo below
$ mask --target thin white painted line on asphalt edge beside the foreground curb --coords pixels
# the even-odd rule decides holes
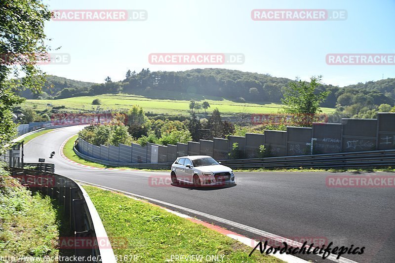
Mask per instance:
[[[217,216],[213,216],[213,215],[210,215],[210,214],[199,212],[199,211],[196,211],[196,210],[193,210],[193,209],[189,209],[189,208],[186,208],[186,207],[182,207],[182,206],[179,206],[179,205],[174,205],[174,204],[171,204],[171,203],[160,201],[160,200],[157,200],[157,199],[154,199],[154,198],[151,198],[151,197],[147,197],[147,196],[144,196],[144,195],[135,194],[135,193],[131,193],[131,192],[126,192],[126,191],[122,191],[122,190],[119,190],[119,189],[105,187],[105,186],[101,186],[101,185],[96,185],[96,184],[92,184],[92,183],[89,183],[89,182],[81,181],[81,180],[78,180],[78,179],[73,179],[73,180],[76,180],[76,181],[79,181],[79,182],[82,182],[82,183],[85,183],[85,184],[89,184],[89,185],[93,185],[93,186],[97,186],[97,187],[113,190],[113,191],[118,191],[118,192],[121,192],[121,193],[132,195],[134,197],[139,197],[139,198],[150,200],[150,201],[162,204],[162,205],[166,205],[166,206],[170,206],[170,207],[177,208],[177,209],[180,209],[180,210],[184,210],[186,212],[189,212],[189,213],[192,213],[192,214],[195,214],[195,215],[199,215],[199,216],[202,216],[202,217],[205,217],[205,218],[209,218],[211,220],[214,220],[214,221],[217,221],[217,222],[221,222],[221,223],[224,223],[224,224],[227,224],[227,225],[232,225],[234,227],[246,230],[248,232],[255,233],[255,234],[258,234],[260,236],[264,236],[264,237],[276,240],[276,241],[278,241],[280,243],[286,242],[286,243],[296,244],[296,245],[298,245],[300,247],[303,245],[302,243],[296,242],[294,240],[287,239],[285,237],[282,237],[282,236],[279,236],[279,235],[276,235],[276,234],[272,234],[272,233],[269,233],[269,232],[266,232],[266,231],[263,231],[263,230],[260,230],[260,229],[248,226],[248,225],[239,224],[237,222],[233,222],[233,221],[230,221],[230,220],[227,220],[227,219],[223,219],[223,218],[220,218],[220,217],[217,217]],[[273,256],[276,256],[276,254],[274,254]],[[283,255],[281,255],[281,256],[283,256]],[[357,263],[356,261],[349,260],[349,259],[346,259],[346,258],[343,258],[343,257],[340,257],[339,259],[336,259],[336,258],[337,258],[336,255],[331,254],[326,259],[331,260],[333,262],[337,262],[337,263]]]

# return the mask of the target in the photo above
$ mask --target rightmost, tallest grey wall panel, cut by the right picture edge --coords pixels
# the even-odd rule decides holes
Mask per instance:
[[[378,113],[377,115],[377,149],[395,149],[395,113]]]

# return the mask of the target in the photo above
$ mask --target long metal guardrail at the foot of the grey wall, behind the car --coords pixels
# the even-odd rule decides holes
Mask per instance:
[[[76,154],[86,160],[109,166],[124,166],[147,169],[170,169],[172,163],[123,163],[105,161],[82,154],[75,147]],[[220,160],[231,168],[346,168],[395,166],[395,150],[356,151],[315,155],[296,155],[237,160]]]

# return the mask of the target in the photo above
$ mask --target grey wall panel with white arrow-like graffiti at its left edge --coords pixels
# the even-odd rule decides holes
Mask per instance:
[[[313,123],[313,154],[336,153],[341,148],[341,123]]]

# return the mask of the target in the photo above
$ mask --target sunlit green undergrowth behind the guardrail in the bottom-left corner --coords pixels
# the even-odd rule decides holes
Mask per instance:
[[[0,168],[0,256],[57,256],[57,211]],[[10,187],[13,185],[13,187]],[[38,212],[39,211],[39,212]]]

